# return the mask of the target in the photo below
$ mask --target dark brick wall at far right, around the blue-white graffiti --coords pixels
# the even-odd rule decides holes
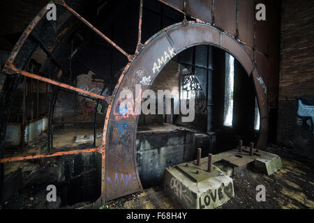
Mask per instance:
[[[313,1],[287,0],[282,3],[277,138],[278,144],[311,157],[314,157],[313,124],[297,117],[297,98],[306,100],[314,108],[313,11]]]

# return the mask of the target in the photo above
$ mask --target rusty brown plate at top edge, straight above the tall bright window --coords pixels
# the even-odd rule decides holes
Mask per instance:
[[[237,0],[214,1],[214,25],[223,31],[236,35]]]

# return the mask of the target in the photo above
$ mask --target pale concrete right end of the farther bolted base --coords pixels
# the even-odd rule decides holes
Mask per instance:
[[[274,174],[278,169],[283,167],[283,162],[281,162],[281,157],[279,155],[261,151],[262,156],[257,158],[253,162],[253,166],[261,171],[263,174],[270,176]]]

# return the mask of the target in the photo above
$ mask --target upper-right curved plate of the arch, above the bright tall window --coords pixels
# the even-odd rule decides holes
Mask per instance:
[[[246,69],[248,75],[251,75],[251,72],[254,68],[252,60],[250,56],[246,53],[244,48],[236,40],[230,38],[230,36],[226,34],[223,34],[221,38],[221,47],[227,49],[227,51],[236,56],[236,58],[242,64],[244,69]]]

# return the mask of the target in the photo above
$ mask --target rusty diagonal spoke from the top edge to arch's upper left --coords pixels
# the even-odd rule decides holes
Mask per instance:
[[[77,13],[73,8],[70,8],[70,6],[68,6],[66,4],[65,1],[61,0],[56,2],[59,3],[61,6],[63,6],[64,8],[66,8],[66,10],[68,10],[70,13],[72,13],[73,15],[75,15],[75,17],[77,17],[77,19],[81,20],[84,24],[86,24],[87,26],[89,26],[89,28],[91,28],[93,31],[95,31],[101,38],[103,38],[104,40],[106,40],[108,43],[110,43],[110,45],[112,45],[112,47],[116,48],[119,50],[119,52],[121,52],[121,54],[124,54],[124,56],[126,56],[128,58],[128,61],[131,61],[133,56],[128,54],[127,52],[125,52],[123,49],[121,49],[121,47],[119,47],[116,43],[114,43],[112,40],[110,40],[110,38],[108,38],[107,36],[105,36],[104,33],[100,32],[95,26],[93,26],[91,23],[89,23],[87,20],[84,19],[84,17],[82,17],[82,15],[80,15],[79,13]]]

